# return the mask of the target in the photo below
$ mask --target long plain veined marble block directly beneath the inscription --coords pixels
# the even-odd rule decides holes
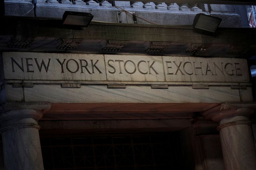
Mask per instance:
[[[25,101],[51,103],[221,103],[240,101],[239,91],[230,87],[192,89],[172,86],[151,89],[151,86],[127,86],[108,89],[107,85],[81,85],[81,88],[61,88],[61,85],[34,85],[24,88]]]

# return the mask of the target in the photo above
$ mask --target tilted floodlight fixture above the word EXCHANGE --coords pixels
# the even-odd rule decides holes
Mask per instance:
[[[196,14],[193,22],[193,28],[202,33],[215,33],[220,25],[221,18],[212,17],[203,13]]]

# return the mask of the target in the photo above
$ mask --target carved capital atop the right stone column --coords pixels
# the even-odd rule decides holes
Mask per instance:
[[[219,122],[234,116],[250,117],[254,113],[256,102],[225,102],[202,113],[205,119]]]

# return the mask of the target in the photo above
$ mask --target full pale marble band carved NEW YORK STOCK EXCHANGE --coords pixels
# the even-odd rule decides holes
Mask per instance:
[[[249,82],[234,58],[4,52],[6,79],[159,82]]]

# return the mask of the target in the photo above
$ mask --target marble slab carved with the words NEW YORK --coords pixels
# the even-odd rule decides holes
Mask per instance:
[[[4,53],[4,58],[6,79],[106,80],[103,55]]]

